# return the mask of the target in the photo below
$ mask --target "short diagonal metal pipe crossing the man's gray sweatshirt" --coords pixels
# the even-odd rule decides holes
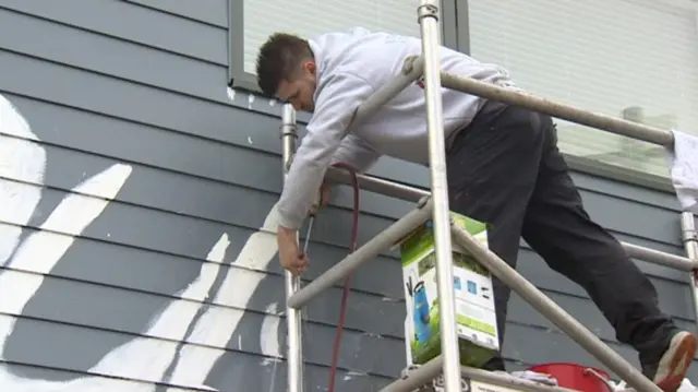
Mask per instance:
[[[351,118],[351,127],[363,121],[377,109],[393,99],[408,85],[422,76],[424,72],[424,61],[419,56],[409,56],[402,64],[402,72],[388,84],[378,88],[366,100],[364,100],[354,111]]]

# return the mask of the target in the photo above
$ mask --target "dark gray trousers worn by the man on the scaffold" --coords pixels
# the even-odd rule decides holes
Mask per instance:
[[[513,268],[524,237],[550,268],[587,290],[619,342],[654,365],[676,328],[659,310],[650,281],[589,218],[556,144],[550,117],[489,102],[449,147],[450,209],[491,224],[490,249]],[[503,343],[510,292],[495,278],[494,294]],[[497,358],[485,368],[504,364]]]

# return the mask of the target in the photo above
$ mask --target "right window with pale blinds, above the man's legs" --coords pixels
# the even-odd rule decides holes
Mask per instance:
[[[505,67],[531,93],[698,133],[697,2],[469,0],[468,5],[471,55]],[[662,147],[557,123],[561,150],[568,155],[669,176]]]

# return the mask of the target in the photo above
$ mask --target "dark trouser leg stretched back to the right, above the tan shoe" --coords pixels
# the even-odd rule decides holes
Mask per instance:
[[[543,152],[522,237],[553,270],[587,290],[616,338],[635,347],[641,363],[659,360],[675,326],[660,311],[647,276],[585,211],[554,133]]]

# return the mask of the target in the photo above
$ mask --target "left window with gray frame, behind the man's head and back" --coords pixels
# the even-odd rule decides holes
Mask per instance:
[[[260,46],[274,32],[312,38],[362,26],[420,36],[417,8],[421,0],[230,0],[231,86],[257,92],[254,69]],[[442,1],[442,41],[457,48],[456,0]]]

